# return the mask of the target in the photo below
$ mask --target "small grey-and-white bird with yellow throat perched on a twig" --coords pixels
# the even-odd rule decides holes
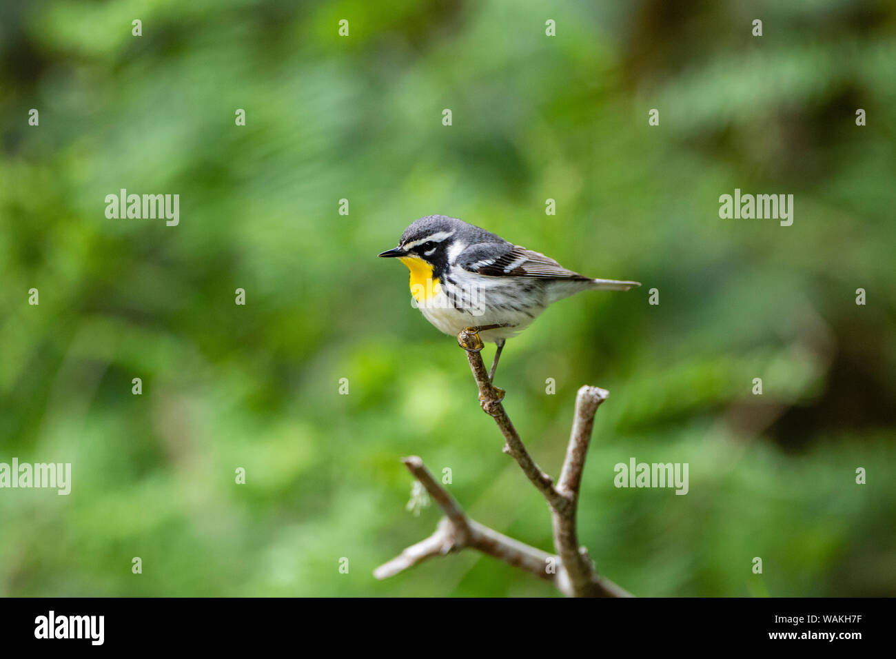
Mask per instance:
[[[414,221],[398,247],[379,256],[396,257],[408,266],[411,295],[435,327],[445,334],[473,327],[482,341],[496,344],[489,373],[493,382],[504,342],[547,305],[580,290],[641,285],[573,273],[552,258],[447,215]]]

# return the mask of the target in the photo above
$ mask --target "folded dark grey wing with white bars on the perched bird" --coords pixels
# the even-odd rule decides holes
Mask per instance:
[[[512,243],[476,243],[457,257],[457,265],[470,273],[489,277],[537,277],[541,279],[583,279],[553,258]]]

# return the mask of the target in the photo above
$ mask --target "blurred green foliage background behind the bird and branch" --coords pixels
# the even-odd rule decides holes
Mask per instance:
[[[497,378],[551,473],[576,389],[610,390],[600,572],[894,594],[896,9],[594,5],[0,5],[0,462],[73,463],[68,497],[0,490],[0,594],[555,595],[470,552],[371,575],[438,518],[401,455],[551,548],[462,352],[375,257],[429,213],[644,284],[549,309]],[[123,187],[179,194],[180,225],[108,220]],[[736,187],[795,195],[793,226],[719,219]],[[630,457],[690,464],[689,494],[617,490]]]

